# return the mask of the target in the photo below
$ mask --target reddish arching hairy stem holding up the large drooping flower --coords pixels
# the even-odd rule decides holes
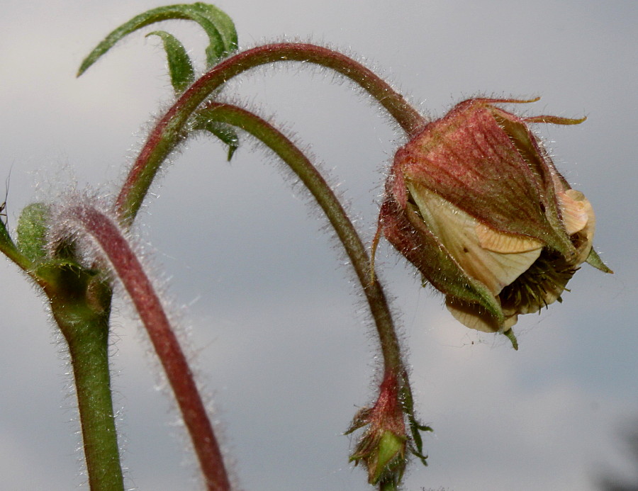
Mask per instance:
[[[280,61],[320,64],[352,79],[376,98],[410,136],[425,125],[424,118],[386,81],[339,52],[304,43],[277,43],[255,47],[220,62],[204,74],[155,125],[116,201],[116,209],[125,224],[130,224],[138,213],[159,166],[183,137],[191,113],[213,91],[237,74],[261,64]]]

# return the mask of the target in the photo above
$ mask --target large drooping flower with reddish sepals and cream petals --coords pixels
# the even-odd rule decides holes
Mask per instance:
[[[611,272],[592,249],[591,204],[527,125],[584,118],[521,118],[495,106],[523,102],[532,101],[463,101],[398,149],[373,244],[383,232],[457,320],[508,334],[515,348],[518,315],[560,302],[580,264]]]

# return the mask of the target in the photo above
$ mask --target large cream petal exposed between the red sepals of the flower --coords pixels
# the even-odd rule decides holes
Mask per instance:
[[[532,244],[530,241],[534,239],[527,240],[526,237],[515,237],[496,230],[484,230],[487,227],[484,225],[477,227],[478,222],[475,218],[436,193],[423,186],[415,184],[408,184],[408,186],[430,230],[454,256],[461,268],[487,286],[493,295],[498,295],[504,286],[512,283],[538,259],[542,250],[540,242]],[[481,246],[477,228],[481,230],[483,240],[491,246],[501,249],[509,247],[514,250],[525,250],[525,252],[508,254],[492,252]],[[536,248],[530,249],[532,245]]]

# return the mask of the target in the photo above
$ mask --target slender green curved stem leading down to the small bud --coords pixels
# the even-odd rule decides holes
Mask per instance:
[[[346,253],[357,273],[366,300],[370,306],[374,323],[379,334],[381,352],[384,356],[384,372],[391,371],[403,376],[405,368],[401,360],[401,347],[386,296],[379,281],[370,281],[370,258],[357,230],[349,220],[340,201],[332,192],[312,162],[279,130],[254,113],[230,104],[209,102],[200,111],[202,118],[228,123],[249,132],[272,149],[298,176],[312,193],[330,224],[337,232],[337,237],[345,247]]]

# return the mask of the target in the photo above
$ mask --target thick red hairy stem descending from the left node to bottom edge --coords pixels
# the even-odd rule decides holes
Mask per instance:
[[[74,205],[69,208],[69,215],[96,240],[133,300],[177,399],[206,488],[210,491],[230,490],[220,448],[193,374],[162,303],[133,249],[120,228],[96,208]]]

